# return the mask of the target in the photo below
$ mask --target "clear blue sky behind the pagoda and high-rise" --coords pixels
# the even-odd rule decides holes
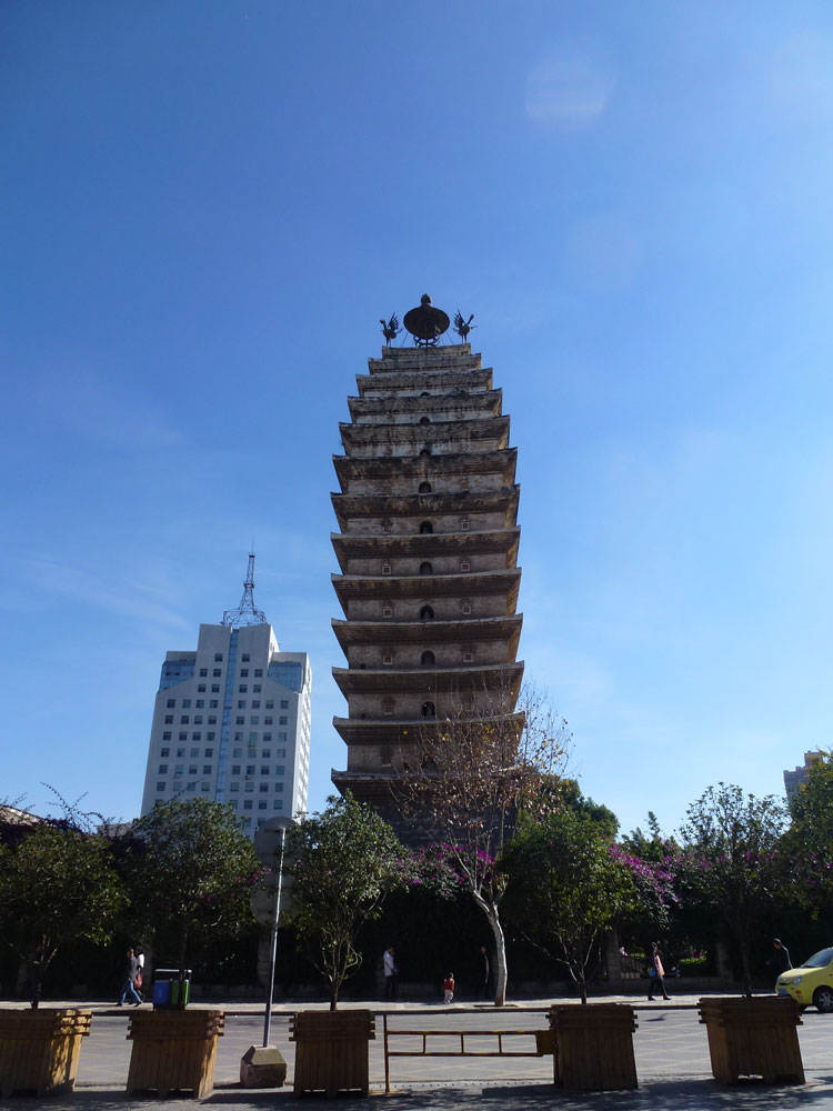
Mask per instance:
[[[247,552],[345,767],[338,422],[475,313],[521,655],[625,830],[833,739],[833,8],[0,7],[0,798],[139,809],[159,668]]]

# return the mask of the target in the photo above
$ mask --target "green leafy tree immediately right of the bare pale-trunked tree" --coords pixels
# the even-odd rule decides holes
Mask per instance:
[[[603,933],[636,898],[630,870],[613,850],[608,822],[562,807],[543,820],[522,815],[503,853],[508,915],[564,965],[582,1003]]]

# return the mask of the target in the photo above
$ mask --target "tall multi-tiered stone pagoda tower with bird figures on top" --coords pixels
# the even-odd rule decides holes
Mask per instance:
[[[404,324],[414,346],[382,348],[357,376],[333,458],[347,657],[333,677],[348,701],[333,724],[348,758],[332,781],[388,818],[419,731],[510,714],[523,675],[518,452],[501,391],[469,343],[438,344],[449,318],[429,297]],[[459,313],[456,330],[469,332]],[[394,317],[389,343],[397,331]]]

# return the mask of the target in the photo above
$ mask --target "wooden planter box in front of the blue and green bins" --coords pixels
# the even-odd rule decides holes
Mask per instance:
[[[217,1039],[222,1011],[139,1011],[130,1017],[132,1040],[128,1095],[155,1090],[160,1097],[189,1089],[197,1100],[214,1089]]]

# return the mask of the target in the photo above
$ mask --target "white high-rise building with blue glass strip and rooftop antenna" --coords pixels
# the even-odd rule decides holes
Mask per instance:
[[[254,834],[275,814],[307,810],[312,669],[281,652],[254,609],[254,557],[243,598],[201,624],[197,651],[168,652],[153,711],[142,814],[170,799],[230,803]]]

